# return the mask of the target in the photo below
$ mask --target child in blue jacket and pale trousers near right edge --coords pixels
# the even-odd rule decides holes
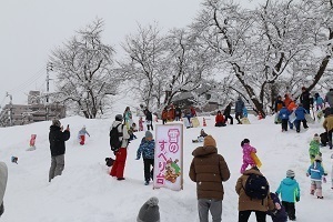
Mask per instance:
[[[314,162],[309,167],[306,176],[311,176],[311,195],[314,195],[316,191],[316,198],[323,199],[322,193],[322,179],[324,175],[324,169],[322,167],[322,158],[316,155]]]

